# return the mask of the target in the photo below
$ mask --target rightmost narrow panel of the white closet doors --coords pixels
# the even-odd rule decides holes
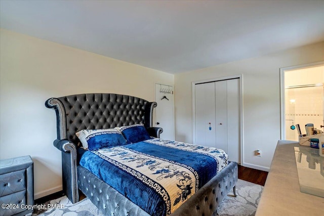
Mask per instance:
[[[239,119],[240,119],[239,79],[227,80],[227,153],[231,161],[240,161]]]

